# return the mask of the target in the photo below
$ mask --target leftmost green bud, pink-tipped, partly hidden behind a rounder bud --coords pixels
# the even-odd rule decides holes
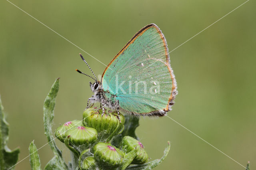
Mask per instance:
[[[66,138],[66,132],[70,128],[75,128],[82,125],[82,121],[70,121],[66,122],[63,125],[59,126],[55,130],[55,136],[58,138],[61,142],[64,142],[64,139]]]

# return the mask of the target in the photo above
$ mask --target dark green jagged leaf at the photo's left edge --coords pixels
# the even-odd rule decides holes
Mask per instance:
[[[20,149],[16,148],[11,151],[8,146],[9,138],[9,124],[6,122],[4,117],[4,107],[0,97],[0,170],[14,169],[18,161],[18,154]]]

